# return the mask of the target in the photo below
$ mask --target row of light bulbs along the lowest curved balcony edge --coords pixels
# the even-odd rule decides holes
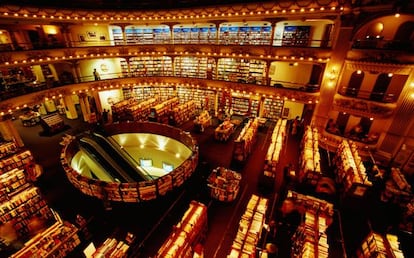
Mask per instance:
[[[199,89],[200,88],[200,85],[194,85],[194,84],[189,84],[189,83],[182,84],[182,83],[158,83],[158,82],[152,83],[152,82],[150,82],[150,83],[144,83],[144,84],[143,83],[139,83],[139,84],[135,84],[135,83],[134,84],[131,84],[131,83],[116,84],[116,85],[110,85],[110,86],[97,87],[96,89],[95,89],[95,87],[92,87],[90,89],[90,91],[111,90],[111,89],[119,89],[119,88],[133,88],[135,86],[139,86],[139,87],[142,87],[142,86],[151,86],[151,87],[152,86],[161,86],[161,87],[169,87],[169,86],[174,87],[174,86],[176,86],[176,87],[183,87],[184,86],[184,87],[190,87],[190,88],[193,88],[193,89]],[[210,87],[210,86],[208,86],[207,89],[208,90],[213,90],[213,88]],[[216,89],[218,91],[225,91],[225,92],[231,92],[231,93],[237,93],[237,94],[244,94],[244,95],[248,94],[249,96],[250,95],[260,96],[261,95],[264,98],[277,99],[277,100],[282,100],[283,99],[284,101],[290,100],[290,101],[293,101],[293,102],[296,101],[295,98],[289,99],[286,96],[281,97],[279,95],[275,96],[275,95],[270,95],[270,94],[259,94],[259,93],[233,90],[233,89],[227,89],[227,88],[221,88],[221,87],[220,88],[214,88],[214,89]],[[89,92],[89,89],[85,89],[85,90],[73,91],[72,94],[73,95],[78,95],[78,94],[83,94],[83,93],[88,93],[88,92]],[[44,100],[45,101],[48,101],[49,99],[55,100],[57,98],[63,98],[63,97],[64,97],[64,94],[58,94],[58,95],[53,95],[51,97],[45,97]],[[315,101],[309,100],[307,103],[308,104],[313,104],[313,103],[317,104],[317,103],[319,103],[319,101],[318,100],[315,100]],[[17,106],[14,109],[10,108],[9,110],[7,110],[7,112],[5,112],[5,111],[0,112],[0,116],[4,116],[5,114],[12,114],[14,111],[19,111],[20,109],[27,108],[27,107],[28,107],[28,105],[24,104],[21,107]]]

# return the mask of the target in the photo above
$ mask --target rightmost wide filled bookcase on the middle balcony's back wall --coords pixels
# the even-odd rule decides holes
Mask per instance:
[[[243,58],[220,58],[217,79],[231,82],[263,84],[266,62]]]

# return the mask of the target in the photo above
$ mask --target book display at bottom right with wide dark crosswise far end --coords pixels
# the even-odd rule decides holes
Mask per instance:
[[[326,234],[332,224],[333,205],[313,196],[288,191],[286,199],[292,200],[304,219],[292,237],[292,257],[329,256]]]

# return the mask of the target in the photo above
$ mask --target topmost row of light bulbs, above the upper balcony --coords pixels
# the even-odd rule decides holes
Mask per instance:
[[[58,20],[80,20],[80,21],[139,21],[139,20],[175,20],[175,19],[198,19],[198,18],[212,18],[212,17],[233,17],[233,16],[247,16],[247,15],[271,15],[271,14],[295,14],[295,13],[314,13],[317,11],[323,12],[323,11],[343,11],[344,7],[337,7],[337,6],[331,6],[331,7],[320,7],[320,8],[298,8],[298,9],[282,9],[282,10],[266,10],[266,11],[250,11],[250,12],[228,12],[228,13],[215,13],[215,14],[201,14],[201,15],[171,15],[171,16],[155,16],[153,17],[153,14],[151,14],[151,16],[148,17],[142,17],[142,14],[139,15],[134,15],[134,16],[124,16],[124,17],[100,17],[100,16],[70,16],[70,15],[66,15],[66,16],[55,16],[55,15],[38,15],[38,14],[28,14],[28,13],[23,13],[23,14],[19,14],[18,12],[15,13],[8,13],[8,12],[3,12],[3,16],[5,17],[24,17],[24,18],[35,18],[35,19],[58,19]]]

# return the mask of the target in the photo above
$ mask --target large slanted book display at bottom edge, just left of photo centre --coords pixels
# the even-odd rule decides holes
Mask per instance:
[[[207,206],[193,200],[155,257],[193,257],[196,246],[204,240],[206,230]]]

